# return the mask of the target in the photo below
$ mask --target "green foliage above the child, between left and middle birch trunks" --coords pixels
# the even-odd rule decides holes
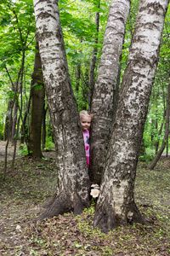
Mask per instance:
[[[99,1],[77,1],[71,3],[59,2],[61,25],[65,38],[65,49],[68,59],[71,84],[77,98],[79,110],[88,108],[88,79],[89,67],[93,47],[97,47],[97,66],[105,33],[109,5]],[[99,41],[94,44],[96,26],[94,25],[95,12],[100,11]],[[79,71],[78,71],[79,68]],[[80,75],[78,75],[80,73]]]

